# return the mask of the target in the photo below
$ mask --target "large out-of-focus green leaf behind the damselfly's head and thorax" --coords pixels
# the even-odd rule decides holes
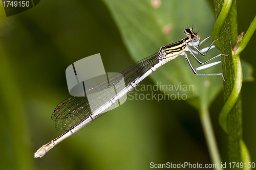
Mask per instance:
[[[185,38],[185,27],[200,30],[201,40],[209,36],[215,17],[205,1],[118,1],[104,0],[120,30],[123,42],[134,61],[156,53],[161,46]],[[152,2],[161,2],[159,7]],[[169,33],[168,33],[169,29]],[[208,46],[206,44],[204,47]],[[220,52],[219,52],[220,53]],[[207,54],[208,58],[214,54]],[[216,55],[216,54],[215,54]],[[197,67],[193,57],[190,61]],[[201,61],[206,61],[201,57]],[[211,72],[221,72],[210,68]],[[174,89],[164,90],[169,94],[183,94],[183,97],[198,98],[193,106],[208,107],[222,87],[221,76],[194,75],[183,56],[170,61],[152,74],[151,79],[158,85]],[[179,87],[175,89],[175,87]],[[180,88],[182,87],[182,88]],[[190,88],[188,88],[190,87]],[[183,98],[184,99],[184,98]]]

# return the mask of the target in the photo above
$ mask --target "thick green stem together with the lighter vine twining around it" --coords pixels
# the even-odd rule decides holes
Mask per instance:
[[[229,1],[229,0],[225,0]],[[216,15],[220,12],[221,0],[215,1],[216,6]],[[225,3],[224,3],[225,4]],[[224,6],[224,5],[223,5]],[[218,9],[219,8],[219,9]],[[242,67],[240,62],[239,54],[244,50],[245,46],[249,42],[252,34],[256,30],[256,17],[253,19],[248,31],[244,38],[242,38],[243,33],[238,37],[237,30],[237,6],[236,0],[233,0],[230,12],[229,19],[225,19],[225,23],[220,32],[220,43],[221,43],[221,52],[230,52],[229,44],[234,46],[232,48],[232,62],[230,57],[222,58],[222,68],[223,75],[226,77],[226,82],[224,82],[224,98],[225,105],[221,110],[219,123],[222,129],[228,134],[228,154],[230,162],[251,162],[249,151],[242,139],[242,104],[241,104],[241,87],[242,87]],[[221,12],[223,10],[221,9]],[[226,10],[226,12],[228,12]],[[224,19],[224,18],[223,18]],[[229,22],[228,22],[229,21]],[[222,24],[223,21],[215,23],[215,25]],[[230,36],[228,29],[230,30]],[[215,35],[218,35],[216,30],[212,31]],[[225,39],[226,35],[226,39]],[[228,36],[227,36],[228,35]],[[230,40],[227,41],[227,37],[230,37]],[[225,42],[225,40],[227,42]],[[240,44],[239,44],[240,43]],[[229,53],[230,54],[230,53]],[[224,63],[224,64],[223,64]],[[227,65],[228,64],[228,65]],[[232,65],[233,64],[233,65]],[[233,66],[233,70],[232,70]],[[238,167],[234,167],[238,168]],[[246,166],[243,169],[250,169]]]

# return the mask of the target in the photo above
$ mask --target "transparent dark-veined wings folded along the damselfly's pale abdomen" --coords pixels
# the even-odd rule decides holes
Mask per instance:
[[[115,94],[124,87],[141,77],[150,67],[159,62],[158,53],[142,59],[131,67],[125,69],[121,74],[116,74],[86,92],[62,101],[55,108],[52,119],[55,120],[55,128],[58,131],[67,131],[87,118],[92,111],[108,102]],[[124,79],[124,81],[121,81]],[[84,96],[85,95],[85,96]],[[88,100],[88,96],[93,96]],[[122,99],[119,99],[121,101]],[[113,104],[115,107],[118,103]],[[92,109],[93,108],[93,109]],[[107,112],[109,109],[102,111]],[[102,115],[102,114],[101,114]]]

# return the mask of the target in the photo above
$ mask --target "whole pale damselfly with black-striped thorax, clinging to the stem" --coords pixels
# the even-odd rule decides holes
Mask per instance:
[[[152,74],[160,66],[167,63],[170,60],[175,59],[178,56],[185,56],[185,59],[196,75],[222,75],[219,74],[198,74],[197,70],[210,67],[212,65],[218,64],[220,62],[215,62],[211,64],[206,64],[211,60],[216,59],[223,54],[219,54],[206,62],[201,62],[197,59],[195,54],[200,54],[205,56],[207,52],[214,47],[214,40],[209,47],[204,48],[203,50],[198,50],[200,46],[207,37],[202,42],[200,42],[200,37],[197,33],[193,32],[193,29],[187,27],[184,29],[184,34],[187,36],[181,41],[162,46],[159,52],[142,59],[131,67],[125,69],[121,74],[117,74],[109,78],[109,80],[103,81],[98,85],[90,88],[87,91],[89,94],[98,94],[94,95],[93,103],[89,104],[88,97],[84,96],[84,93],[81,96],[74,96],[63,102],[61,102],[54,110],[52,114],[52,119],[55,120],[55,127],[58,131],[66,131],[56,139],[53,139],[51,142],[43,145],[40,149],[34,154],[35,158],[43,157],[50,149],[52,149],[56,144],[66,139],[67,137],[73,135],[82,127],[86,126],[92,120],[96,119],[103,113],[107,112],[111,107],[118,105],[118,103],[126,96],[126,93],[134,89],[144,78]],[[191,49],[190,46],[193,46],[195,50]],[[185,51],[188,51],[191,56],[201,65],[201,67],[195,69]],[[205,52],[205,54],[203,54]],[[225,55],[223,55],[225,56]],[[123,83],[120,84],[120,80],[124,79]],[[115,88],[109,88],[110,84],[116,84]],[[101,94],[103,89],[109,89],[107,93]],[[114,91],[114,94],[113,94]],[[103,101],[103,102],[102,102]],[[96,108],[92,110],[93,108]]]

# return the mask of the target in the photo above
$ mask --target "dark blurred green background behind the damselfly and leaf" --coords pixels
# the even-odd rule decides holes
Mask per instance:
[[[201,8],[207,8],[214,17],[213,1],[201,2],[204,6],[197,9],[170,10],[200,17]],[[255,5],[255,1],[237,2],[239,33],[248,29]],[[169,17],[180,22],[172,25],[174,32],[181,33],[174,35],[173,42],[184,38],[183,29],[193,23],[204,30],[197,21],[178,14]],[[213,25],[214,21],[209,23],[209,34]],[[41,145],[61,134],[51,114],[70,96],[65,70],[71,63],[100,53],[106,72],[121,72],[138,60],[131,59],[108,7],[98,0],[41,1],[23,13],[2,16],[0,36],[1,169],[150,169],[151,162],[211,163],[197,110],[186,101],[168,100],[127,100],[35,159]],[[254,34],[241,54],[254,68],[255,38]],[[142,84],[154,85],[150,78]],[[255,85],[245,82],[242,87],[243,139],[252,162],[256,158]],[[220,93],[210,113],[222,162],[228,162],[226,134],[218,124],[222,106]]]

